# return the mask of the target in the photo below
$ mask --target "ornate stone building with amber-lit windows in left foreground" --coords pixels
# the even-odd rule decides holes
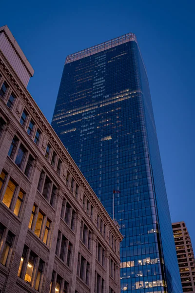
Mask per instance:
[[[26,89],[33,73],[0,27],[0,293],[119,293],[122,235]]]

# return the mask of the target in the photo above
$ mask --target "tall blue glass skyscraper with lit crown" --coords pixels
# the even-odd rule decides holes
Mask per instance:
[[[121,290],[182,292],[146,69],[134,34],[66,58],[52,126],[121,245]]]

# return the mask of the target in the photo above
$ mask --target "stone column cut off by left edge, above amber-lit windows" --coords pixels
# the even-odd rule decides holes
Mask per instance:
[[[17,128],[12,122],[8,122],[5,129],[2,131],[2,137],[0,138],[0,173],[5,164],[5,160],[16,131]]]

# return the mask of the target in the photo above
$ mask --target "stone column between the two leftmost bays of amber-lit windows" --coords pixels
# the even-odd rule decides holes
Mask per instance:
[[[24,213],[21,215],[21,224],[18,235],[15,236],[14,246],[13,246],[13,255],[11,259],[11,269],[7,276],[7,279],[4,284],[3,293],[14,292],[18,269],[20,265],[20,259],[22,256],[26,235],[28,231],[28,224],[30,221],[30,216],[33,208],[33,204],[35,201],[35,196],[37,192],[38,182],[40,171],[42,169],[43,163],[39,158],[36,158],[35,164],[32,170],[32,183],[29,186],[29,191],[25,195],[25,199],[23,202],[24,205]]]

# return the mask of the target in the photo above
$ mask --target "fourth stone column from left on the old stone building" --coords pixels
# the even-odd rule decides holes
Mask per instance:
[[[77,210],[76,215],[76,227],[75,227],[75,245],[73,248],[73,257],[72,257],[72,276],[70,282],[70,293],[75,293],[76,281],[77,281],[77,263],[78,263],[78,248],[80,241],[80,224],[81,224],[82,215],[79,210]]]

